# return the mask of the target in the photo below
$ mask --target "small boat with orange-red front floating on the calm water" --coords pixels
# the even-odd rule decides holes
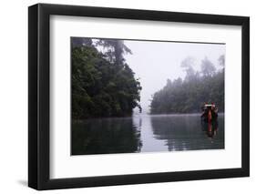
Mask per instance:
[[[218,117],[218,108],[213,102],[211,104],[204,103],[204,106],[201,107],[201,110],[201,118],[206,122],[215,121]]]

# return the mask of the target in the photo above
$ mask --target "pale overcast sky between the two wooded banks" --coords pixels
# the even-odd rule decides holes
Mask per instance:
[[[148,112],[151,96],[164,87],[167,79],[184,78],[185,72],[180,67],[181,61],[188,56],[196,59],[195,70],[200,70],[200,62],[205,56],[220,69],[218,59],[225,55],[225,45],[195,44],[176,42],[152,42],[125,40],[132,55],[125,55],[128,66],[140,78],[141,107]]]

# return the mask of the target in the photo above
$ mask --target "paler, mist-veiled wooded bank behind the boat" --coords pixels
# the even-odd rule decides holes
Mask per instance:
[[[214,102],[219,111],[224,111],[224,56],[220,56],[219,62],[222,68],[217,71],[205,58],[200,72],[196,72],[193,58],[183,60],[181,67],[186,77],[168,80],[166,86],[153,95],[151,114],[196,113],[205,102]]]

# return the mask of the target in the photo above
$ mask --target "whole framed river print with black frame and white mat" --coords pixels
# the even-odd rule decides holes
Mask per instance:
[[[28,8],[28,185],[250,174],[250,19]]]

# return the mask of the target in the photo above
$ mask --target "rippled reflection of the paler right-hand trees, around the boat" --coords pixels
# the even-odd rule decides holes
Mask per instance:
[[[198,115],[156,116],[151,124],[155,138],[165,139],[169,151],[220,149],[224,148],[224,117],[219,119],[220,133],[217,123],[201,126]]]

